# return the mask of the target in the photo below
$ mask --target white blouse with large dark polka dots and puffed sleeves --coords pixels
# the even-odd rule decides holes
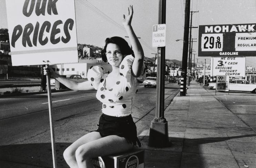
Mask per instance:
[[[102,102],[102,112],[104,114],[123,117],[132,113],[132,96],[136,93],[136,87],[146,77],[144,64],[139,77],[134,77],[131,74],[133,60],[132,55],[128,55],[123,59],[119,66],[120,77],[116,79],[111,88],[105,87],[108,74],[103,73],[103,67],[96,65],[88,70],[88,80],[97,90],[96,98]]]

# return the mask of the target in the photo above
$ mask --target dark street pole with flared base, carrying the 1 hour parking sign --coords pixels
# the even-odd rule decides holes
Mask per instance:
[[[159,0],[158,24],[165,24],[166,20],[166,0]],[[150,124],[149,143],[152,147],[167,147],[168,123],[164,118],[164,61],[165,47],[157,47],[157,85],[156,85],[156,111],[155,118]]]

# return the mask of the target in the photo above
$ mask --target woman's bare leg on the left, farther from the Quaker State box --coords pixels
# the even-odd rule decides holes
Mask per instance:
[[[78,164],[75,159],[75,151],[76,149],[83,145],[86,144],[90,141],[94,141],[96,139],[100,139],[102,136],[100,135],[99,132],[90,132],[78,140],[76,140],[74,143],[72,143],[68,148],[65,149],[63,156],[66,161],[66,163],[69,165],[71,168],[78,168]]]

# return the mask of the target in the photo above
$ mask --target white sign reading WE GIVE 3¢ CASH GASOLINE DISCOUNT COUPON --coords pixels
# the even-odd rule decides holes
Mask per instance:
[[[245,57],[213,57],[213,76],[245,76]]]

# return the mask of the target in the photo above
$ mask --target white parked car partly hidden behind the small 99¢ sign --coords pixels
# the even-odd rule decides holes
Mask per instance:
[[[209,87],[216,89],[216,83],[209,83]],[[230,80],[229,81],[229,91],[241,91],[241,92],[252,92],[256,93],[256,84],[249,84],[246,80]]]

